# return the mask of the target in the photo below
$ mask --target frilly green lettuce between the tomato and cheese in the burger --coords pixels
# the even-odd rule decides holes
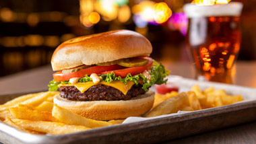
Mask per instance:
[[[139,81],[142,81],[143,86],[142,89],[144,89],[146,92],[148,92],[148,87],[157,84],[160,85],[162,83],[166,83],[167,79],[164,79],[167,75],[169,75],[170,71],[164,69],[164,65],[161,63],[157,63],[156,61],[153,62],[152,69],[151,69],[151,79],[148,81],[148,79],[142,75],[141,73],[138,75],[131,75],[130,73],[125,77],[121,78],[120,76],[117,77],[115,73],[107,73],[104,75],[100,75],[100,81],[106,81],[107,83],[110,83],[111,81],[121,81],[123,83],[127,83],[127,81],[134,81],[134,83],[137,85],[139,84]],[[84,77],[80,78],[78,80],[79,83],[86,83],[87,81],[92,81],[92,79],[85,75]],[[69,83],[69,81],[50,81],[49,83],[49,91],[56,91],[58,89],[58,85],[60,83]]]

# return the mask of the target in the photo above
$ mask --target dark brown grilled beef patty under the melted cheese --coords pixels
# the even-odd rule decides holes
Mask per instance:
[[[74,86],[59,87],[59,91],[62,98],[74,101],[130,100],[139,94],[146,93],[141,87],[140,84],[133,85],[126,95],[119,91],[119,89],[101,84],[90,87],[84,93],[79,92]]]

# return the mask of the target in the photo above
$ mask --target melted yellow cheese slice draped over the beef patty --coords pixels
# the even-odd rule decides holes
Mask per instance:
[[[77,87],[77,89],[84,93],[86,92],[90,87],[92,87],[93,85],[108,85],[110,87],[114,87],[116,89],[119,89],[119,91],[121,91],[124,95],[127,94],[127,92],[129,91],[129,89],[131,89],[131,87],[135,84],[133,81],[127,81],[127,84],[122,83],[121,81],[112,81],[110,83],[107,83],[106,81],[100,81],[100,83],[94,83],[92,81],[88,81],[86,83],[75,83],[75,84],[59,84],[58,87],[63,87],[63,86],[75,86]]]

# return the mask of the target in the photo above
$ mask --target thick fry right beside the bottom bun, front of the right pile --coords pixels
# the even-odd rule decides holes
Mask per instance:
[[[174,112],[178,112],[182,106],[189,106],[187,94],[182,92],[178,96],[174,96],[173,98],[169,98],[165,100],[156,108],[148,113],[146,117],[160,116],[162,114],[171,114]]]

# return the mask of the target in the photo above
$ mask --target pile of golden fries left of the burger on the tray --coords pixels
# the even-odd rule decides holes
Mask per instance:
[[[53,104],[59,92],[40,92],[15,98],[0,105],[0,120],[34,134],[61,135],[122,123],[123,120],[99,121],[79,116]]]

